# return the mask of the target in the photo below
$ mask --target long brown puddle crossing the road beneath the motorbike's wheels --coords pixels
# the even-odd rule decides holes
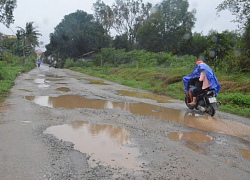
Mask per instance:
[[[196,116],[184,111],[156,106],[146,103],[111,102],[105,100],[86,99],[77,95],[49,96],[25,96],[26,100],[41,106],[51,108],[91,108],[91,109],[115,109],[130,111],[133,114],[146,115],[170,122],[183,124],[195,129],[245,137],[250,135],[250,126],[210,116]]]

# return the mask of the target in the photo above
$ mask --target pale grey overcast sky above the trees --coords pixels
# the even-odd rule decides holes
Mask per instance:
[[[103,0],[107,5],[112,5],[115,0]],[[190,11],[196,9],[196,24],[193,32],[206,35],[209,30],[235,30],[237,25],[230,22],[234,16],[228,11],[221,12],[218,16],[215,8],[223,0],[188,0]],[[8,35],[16,33],[16,27],[25,27],[27,22],[34,22],[34,26],[42,34],[39,41],[49,43],[49,34],[61,22],[65,15],[83,10],[93,14],[92,5],[96,0],[17,0],[17,8],[14,10],[15,23],[10,25],[11,29],[0,24],[0,32]],[[161,0],[144,0],[153,4]],[[43,49],[43,48],[42,48]],[[43,49],[44,50],[44,49]]]

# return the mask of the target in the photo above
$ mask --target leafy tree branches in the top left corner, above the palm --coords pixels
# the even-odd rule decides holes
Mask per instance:
[[[16,0],[0,1],[0,22],[9,27],[14,22],[13,11],[16,8]]]

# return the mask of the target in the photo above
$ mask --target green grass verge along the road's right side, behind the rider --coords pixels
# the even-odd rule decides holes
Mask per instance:
[[[122,85],[148,90],[155,94],[184,100],[182,77],[190,68],[70,68],[71,70],[104,78]],[[215,72],[221,85],[218,101],[220,110],[250,118],[250,75]]]

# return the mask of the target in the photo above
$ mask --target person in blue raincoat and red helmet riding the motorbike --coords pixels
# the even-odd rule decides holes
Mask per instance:
[[[213,70],[202,60],[196,62],[196,67],[190,75],[183,77],[183,83],[185,86],[186,95],[189,97],[189,81],[193,78],[199,78],[198,86],[193,90],[193,98],[189,103],[190,106],[195,106],[197,95],[203,93],[206,90],[214,89],[215,96],[218,95],[221,86],[213,72]]]

